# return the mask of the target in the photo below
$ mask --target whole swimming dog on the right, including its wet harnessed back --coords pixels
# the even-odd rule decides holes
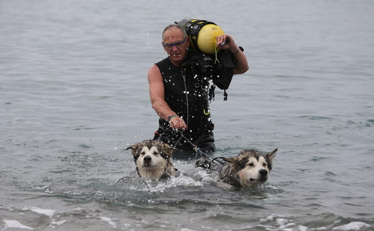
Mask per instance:
[[[205,155],[196,161],[196,167],[218,171],[214,180],[229,183],[233,186],[262,185],[269,178],[273,160],[278,149],[261,152],[255,149],[244,149],[233,157],[217,157],[208,161]],[[221,158],[226,162],[217,161]]]

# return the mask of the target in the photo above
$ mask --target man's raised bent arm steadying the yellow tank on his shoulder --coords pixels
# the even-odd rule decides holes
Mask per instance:
[[[220,46],[220,44],[226,41],[227,38],[230,39],[229,42],[227,42],[223,46]],[[236,43],[234,42],[234,39],[230,35],[222,34],[222,35],[216,36],[216,39],[217,39],[217,48],[229,49],[231,54],[233,54],[234,57],[236,58],[237,63],[235,63],[236,69],[233,70],[234,75],[243,74],[247,70],[249,70],[248,61],[247,61],[247,58],[245,57],[245,54],[239,49],[239,46],[236,45]]]

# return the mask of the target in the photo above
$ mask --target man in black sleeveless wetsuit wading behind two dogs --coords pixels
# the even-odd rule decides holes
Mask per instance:
[[[219,46],[227,37],[229,42]],[[217,47],[229,49],[236,58],[233,73],[245,73],[248,62],[233,38],[223,34],[216,39]],[[162,45],[168,57],[148,71],[152,108],[160,117],[154,139],[178,149],[192,148],[192,142],[201,151],[212,152],[215,146],[208,103],[209,80],[196,68],[197,63],[189,61],[190,37],[180,25],[168,25],[162,33]]]

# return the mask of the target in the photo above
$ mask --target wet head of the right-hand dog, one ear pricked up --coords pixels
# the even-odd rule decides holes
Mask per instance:
[[[242,186],[256,186],[266,182],[272,170],[273,160],[278,149],[260,152],[244,149],[238,156],[223,158],[229,162],[236,179]]]

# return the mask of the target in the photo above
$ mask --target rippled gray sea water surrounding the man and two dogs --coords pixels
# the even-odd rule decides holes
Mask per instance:
[[[374,230],[374,1],[0,0],[0,230]],[[278,152],[227,189],[194,159],[137,176],[163,28],[215,22],[250,70],[211,103],[213,157]]]

